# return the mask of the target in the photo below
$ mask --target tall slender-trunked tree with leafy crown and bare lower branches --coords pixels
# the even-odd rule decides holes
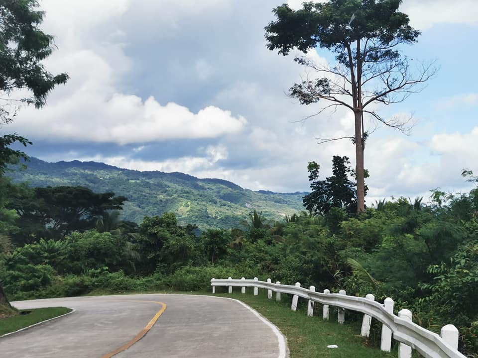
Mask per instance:
[[[277,19],[265,27],[267,47],[284,56],[292,49],[307,53],[316,47],[335,54],[335,65],[297,57],[295,61],[316,71],[318,78],[294,84],[289,95],[301,104],[327,101],[328,105],[317,114],[337,106],[354,113],[355,133],[345,138],[351,138],[356,147],[358,212],[365,209],[363,152],[368,133],[364,116],[408,131],[408,121],[385,119],[375,111],[376,105],[403,101],[436,73],[432,63],[421,64],[413,71],[409,59],[400,51],[420,35],[409,25],[408,16],[398,11],[401,2],[329,0],[304,2],[299,10],[283,4],[273,9]]]

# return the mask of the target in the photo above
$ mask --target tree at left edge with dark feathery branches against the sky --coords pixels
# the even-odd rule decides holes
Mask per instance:
[[[16,106],[11,110],[11,102],[34,104],[40,108],[46,104],[48,93],[68,80],[66,73],[52,75],[41,63],[54,49],[53,36],[39,28],[43,16],[36,0],[0,2],[0,91],[4,98],[0,106],[0,123],[8,123],[15,116]],[[16,90],[28,94],[14,98]],[[16,134],[0,137],[0,176],[12,156],[26,159],[24,153],[9,148],[15,142],[31,144]],[[9,306],[1,282],[0,304]]]

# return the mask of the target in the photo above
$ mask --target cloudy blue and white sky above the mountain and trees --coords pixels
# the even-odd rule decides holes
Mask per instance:
[[[285,0],[282,0],[285,1]],[[298,8],[302,1],[289,0]],[[309,188],[307,163],[331,175],[333,155],[354,161],[346,110],[306,121],[318,107],[284,92],[304,68],[266,49],[271,0],[42,0],[42,28],[58,49],[46,61],[68,72],[48,106],[22,108],[1,128],[33,142],[28,155],[46,161],[98,161],[121,168],[183,172],[242,187],[281,192]],[[405,49],[437,60],[440,70],[420,93],[379,108],[413,113],[410,136],[378,127],[367,141],[367,202],[390,196],[429,197],[429,190],[469,188],[478,174],[478,2],[404,0],[401,11],[422,31]],[[333,61],[318,49],[307,56]],[[375,123],[366,124],[374,128]]]

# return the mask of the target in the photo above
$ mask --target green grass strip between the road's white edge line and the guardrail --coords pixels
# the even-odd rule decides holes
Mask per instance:
[[[218,289],[218,287],[216,288]],[[235,288],[236,290],[238,288]],[[252,290],[248,288],[248,290]],[[262,292],[261,292],[262,291]],[[259,290],[258,296],[240,293],[218,293],[222,297],[236,298],[275,324],[287,338],[291,358],[391,358],[397,357],[397,352],[382,352],[370,347],[370,342],[360,337],[360,322],[358,317],[344,325],[337,323],[337,313],[330,308],[330,321],[322,319],[322,305],[316,304],[314,317],[306,314],[306,300],[299,299],[298,311],[290,310],[290,297],[282,295],[282,302],[269,300],[265,290]],[[320,315],[316,317],[315,315]],[[346,320],[347,320],[346,316]],[[327,348],[337,345],[339,348]]]

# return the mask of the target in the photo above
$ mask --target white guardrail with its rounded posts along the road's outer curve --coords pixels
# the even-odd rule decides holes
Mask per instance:
[[[345,290],[339,293],[330,293],[325,289],[323,293],[316,292],[314,286],[309,289],[300,287],[297,282],[295,286],[283,285],[279,281],[272,283],[270,278],[267,282],[259,281],[257,277],[254,279],[215,279],[211,280],[213,293],[216,286],[229,287],[229,293],[232,293],[233,287],[241,287],[241,293],[245,293],[246,287],[254,288],[254,295],[257,295],[258,289],[267,290],[267,297],[272,299],[272,292],[276,293],[276,300],[280,301],[280,294],[286,293],[293,295],[291,309],[297,309],[297,300],[299,297],[309,300],[307,314],[313,315],[314,303],[318,302],[323,305],[322,317],[329,319],[329,307],[339,307],[338,322],[345,322],[345,310],[353,310],[362,312],[363,321],[361,326],[361,336],[368,337],[370,333],[371,319],[375,318],[382,323],[380,348],[382,351],[390,352],[392,334],[393,338],[400,342],[399,358],[410,358],[412,348],[416,349],[423,357],[426,358],[466,358],[458,351],[458,329],[454,325],[446,325],[441,329],[440,336],[434,332],[428,331],[423,327],[412,322],[412,313],[407,309],[398,312],[398,316],[393,314],[393,300],[386,298],[383,304],[375,301],[372,294],[368,294],[365,298],[348,296]]]

